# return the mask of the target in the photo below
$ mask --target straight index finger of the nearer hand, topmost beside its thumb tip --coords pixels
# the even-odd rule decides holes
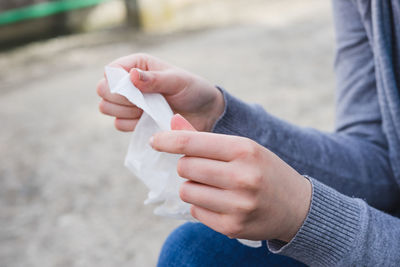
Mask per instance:
[[[150,144],[161,152],[230,161],[236,157],[240,141],[240,137],[230,135],[168,131],[155,134]]]

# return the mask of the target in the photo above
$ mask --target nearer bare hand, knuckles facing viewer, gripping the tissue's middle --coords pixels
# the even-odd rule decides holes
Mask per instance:
[[[184,154],[180,188],[193,217],[231,238],[290,241],[307,216],[311,184],[271,151],[242,137],[196,132],[181,116],[155,134],[158,151]],[[185,130],[186,131],[182,131]]]

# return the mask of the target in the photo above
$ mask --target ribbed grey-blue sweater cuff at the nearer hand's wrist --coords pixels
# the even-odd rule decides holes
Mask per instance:
[[[308,177],[307,177],[308,178]],[[361,231],[360,201],[308,178],[313,193],[310,211],[290,243],[268,241],[273,253],[312,266],[334,266],[354,246]]]

